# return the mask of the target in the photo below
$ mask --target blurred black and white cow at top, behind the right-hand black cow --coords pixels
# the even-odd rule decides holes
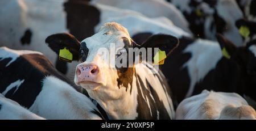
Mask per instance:
[[[243,13],[236,1],[171,0],[171,3],[183,12],[195,37],[216,41],[215,34],[221,33],[238,47],[243,46],[235,26]]]

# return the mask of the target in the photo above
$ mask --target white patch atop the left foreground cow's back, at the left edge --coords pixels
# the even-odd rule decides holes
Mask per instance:
[[[22,56],[23,54],[40,54],[43,55],[40,52],[35,52],[31,50],[13,50],[9,49],[7,47],[1,47],[0,48],[0,61],[4,60],[5,58],[11,58],[11,61],[5,66],[9,66],[12,62],[14,62],[19,56]]]

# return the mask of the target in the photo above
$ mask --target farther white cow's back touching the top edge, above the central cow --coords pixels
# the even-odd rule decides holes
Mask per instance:
[[[188,22],[184,15],[176,9],[174,5],[171,5],[165,1],[157,0],[92,0],[90,3],[100,3],[102,5],[109,5],[117,7],[119,9],[129,9],[140,12],[141,14],[149,18],[158,18],[159,16],[164,16],[170,19],[175,26],[183,29],[185,32],[191,34],[188,27]],[[147,9],[154,10],[148,11]]]

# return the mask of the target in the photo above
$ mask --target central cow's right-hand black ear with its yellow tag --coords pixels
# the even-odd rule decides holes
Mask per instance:
[[[152,35],[150,36],[139,48],[146,48],[148,54],[148,48],[151,48],[152,62],[156,65],[161,65],[164,59],[179,45],[179,39],[171,35]],[[159,48],[158,51],[155,48]],[[158,57],[158,58],[156,58]]]

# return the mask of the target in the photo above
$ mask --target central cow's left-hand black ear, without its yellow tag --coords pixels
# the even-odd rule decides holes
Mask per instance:
[[[73,55],[73,60],[79,60],[80,41],[75,36],[69,33],[56,33],[46,38],[49,48],[51,48],[57,55],[61,49],[68,49]]]

